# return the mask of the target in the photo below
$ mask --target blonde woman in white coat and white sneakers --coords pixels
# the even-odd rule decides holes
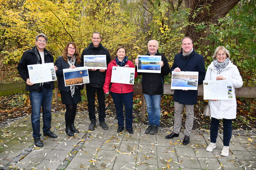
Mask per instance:
[[[229,60],[230,54],[228,50],[219,46],[216,48],[213,61],[206,71],[204,80],[232,80],[233,99],[232,100],[209,100],[211,110],[211,143],[207,146],[206,151],[212,152],[216,147],[216,139],[218,136],[219,121],[223,119],[223,149],[222,156],[228,156],[229,141],[232,133],[232,120],[236,118],[236,96],[235,87],[239,88],[243,85],[243,80],[237,67]]]

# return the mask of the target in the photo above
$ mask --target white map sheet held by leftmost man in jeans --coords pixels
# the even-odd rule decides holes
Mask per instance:
[[[28,65],[28,75],[34,84],[57,80],[54,63]]]

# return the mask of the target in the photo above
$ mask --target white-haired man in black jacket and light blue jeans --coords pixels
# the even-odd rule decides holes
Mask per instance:
[[[142,92],[144,93],[148,112],[148,128],[145,130],[145,133],[153,135],[157,133],[160,124],[160,101],[161,94],[164,92],[164,76],[170,73],[170,68],[166,57],[158,52],[158,42],[156,40],[148,41],[148,53],[145,55],[161,56],[161,61],[159,62],[159,65],[161,66],[161,73],[138,72],[138,75],[142,75]],[[136,58],[136,69],[138,63],[139,60]]]

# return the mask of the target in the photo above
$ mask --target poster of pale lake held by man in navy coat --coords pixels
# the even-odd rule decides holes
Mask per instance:
[[[171,89],[197,90],[198,72],[197,71],[172,71]]]

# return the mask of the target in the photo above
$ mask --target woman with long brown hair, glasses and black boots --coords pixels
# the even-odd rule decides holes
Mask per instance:
[[[81,89],[83,89],[83,85],[65,86],[63,69],[81,67],[81,59],[76,48],[76,43],[68,42],[63,50],[62,56],[57,58],[55,65],[58,67],[56,75],[58,77],[58,88],[61,95],[61,101],[66,106],[65,131],[68,136],[74,136],[74,133],[79,133],[74,126],[74,122],[77,103],[81,101]]]

